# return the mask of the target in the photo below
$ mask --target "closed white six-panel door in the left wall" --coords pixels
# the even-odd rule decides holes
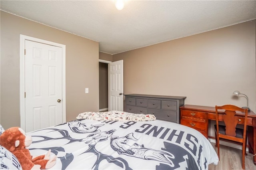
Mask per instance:
[[[62,48],[25,40],[25,131],[62,123]]]

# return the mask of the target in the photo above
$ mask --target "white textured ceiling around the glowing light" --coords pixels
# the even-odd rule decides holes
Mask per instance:
[[[99,42],[116,54],[256,18],[250,1],[1,0],[1,10]]]

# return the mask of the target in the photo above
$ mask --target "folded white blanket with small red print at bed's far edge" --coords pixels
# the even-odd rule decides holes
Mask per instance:
[[[108,111],[108,112],[84,112],[80,113],[76,119],[90,119],[95,121],[154,121],[154,115],[144,115],[136,113],[128,113],[122,111]]]

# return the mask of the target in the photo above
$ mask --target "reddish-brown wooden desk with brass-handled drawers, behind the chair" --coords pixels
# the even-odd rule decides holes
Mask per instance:
[[[188,117],[187,113],[190,113],[191,111],[191,116]],[[198,118],[193,118],[195,113],[197,115],[200,115],[199,119]],[[224,111],[220,111],[219,113],[223,113]],[[202,119],[202,114],[205,114],[204,118]],[[239,124],[244,123],[244,114],[243,113],[238,113],[236,115],[241,116],[241,122]],[[182,120],[183,119],[183,120]],[[191,121],[198,121],[201,123],[198,123],[201,127],[197,127],[196,129],[202,132],[206,138],[208,138],[208,132],[203,131],[201,129],[204,129],[202,127],[207,127],[208,128],[208,120],[216,120],[216,113],[215,113],[215,107],[206,107],[206,106],[196,106],[196,105],[183,105],[180,107],[180,123],[190,126],[192,128],[195,127],[196,123],[191,123],[191,124],[186,124],[184,120],[191,120]],[[223,121],[222,115],[219,116],[219,120]],[[256,114],[253,111],[248,111],[248,117],[247,117],[247,125],[248,125],[248,144],[249,144],[249,153],[256,154]],[[204,124],[202,125],[202,122]],[[207,129],[208,130],[208,129]],[[254,164],[256,165],[256,156],[253,157]]]

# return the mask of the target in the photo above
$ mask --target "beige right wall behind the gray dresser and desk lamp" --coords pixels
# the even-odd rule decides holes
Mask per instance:
[[[113,55],[124,60],[124,94],[186,96],[185,104],[247,104],[256,111],[256,21]],[[256,112],[255,112],[256,113]],[[211,136],[214,136],[214,134]]]

